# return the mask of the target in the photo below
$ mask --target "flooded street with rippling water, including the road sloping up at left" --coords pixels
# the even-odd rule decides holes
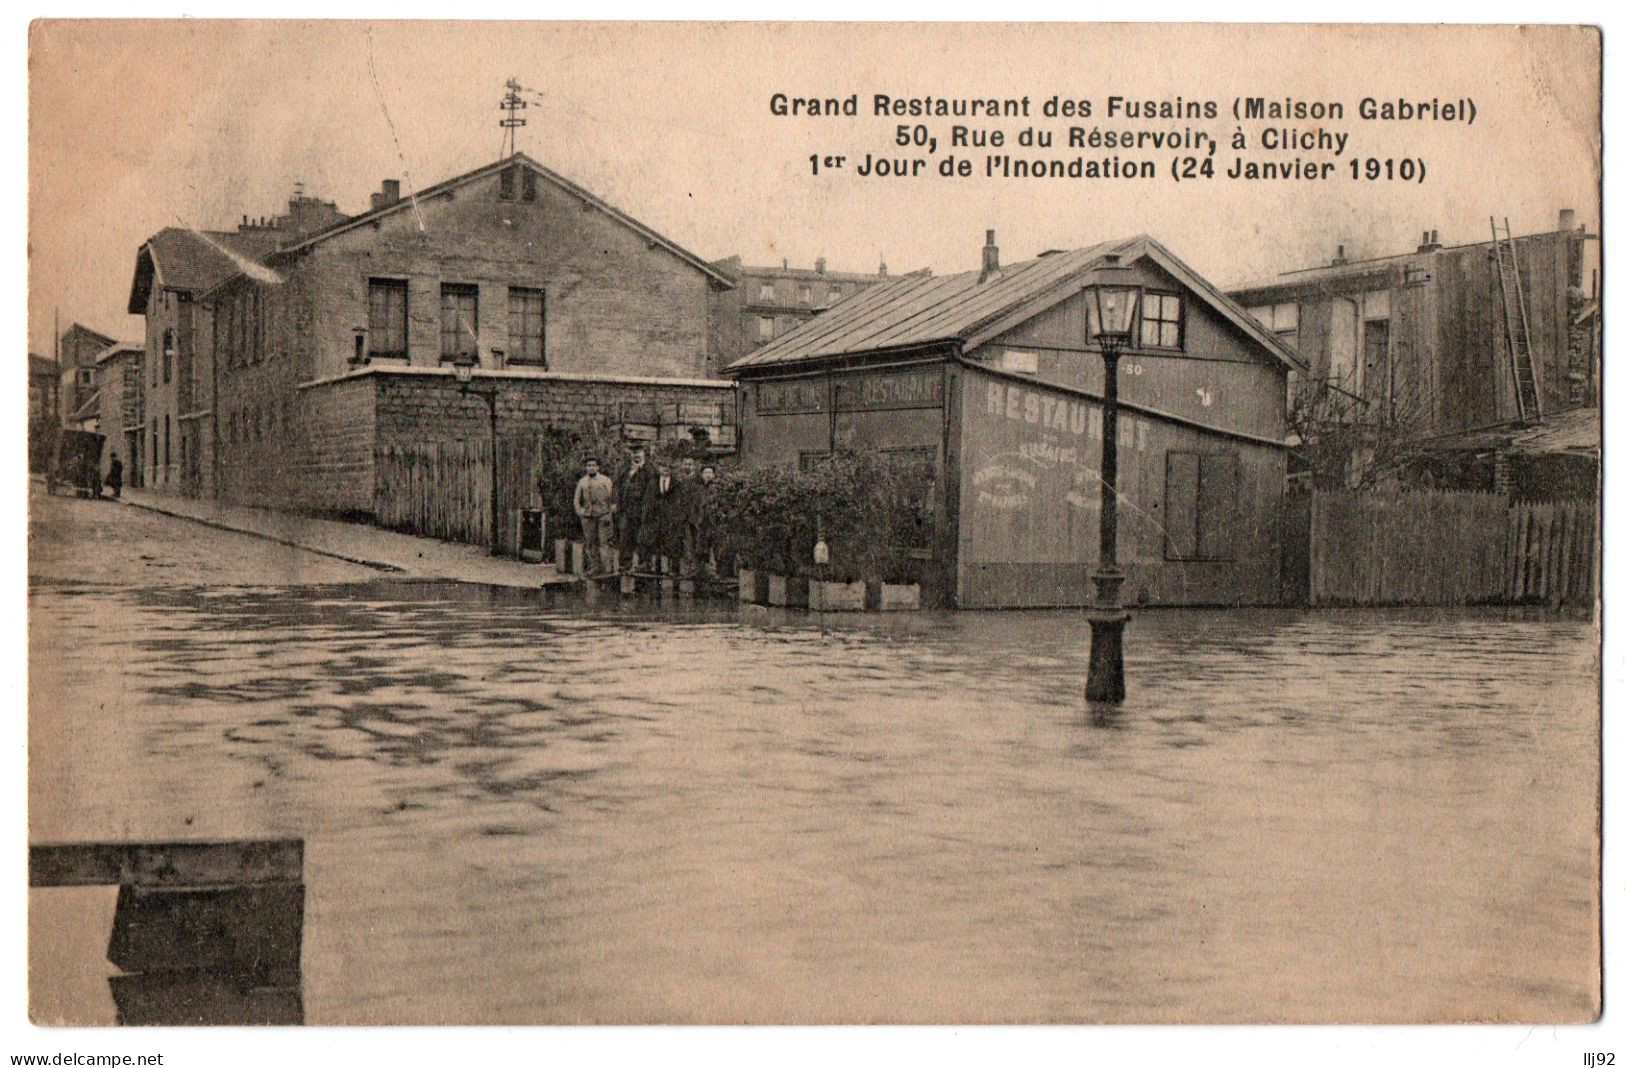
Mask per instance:
[[[1589,623],[1142,611],[1098,714],[1076,611],[587,605],[32,504],[29,839],[306,839],[310,1024],[1596,1011]]]

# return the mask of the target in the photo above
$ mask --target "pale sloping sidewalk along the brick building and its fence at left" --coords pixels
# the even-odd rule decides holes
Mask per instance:
[[[122,501],[130,507],[266,538],[406,579],[448,579],[525,588],[577,582],[572,575],[557,574],[552,564],[525,564],[505,556],[491,556],[476,545],[418,538],[362,523],[310,519],[146,489],[125,489]]]

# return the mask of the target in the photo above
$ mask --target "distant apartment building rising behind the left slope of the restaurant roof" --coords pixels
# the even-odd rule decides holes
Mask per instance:
[[[874,275],[832,271],[822,257],[811,268],[748,267],[738,255],[713,260],[712,267],[734,281],[733,289],[717,294],[712,351],[722,369],[790,333],[824,309],[853,293],[887,281],[886,263]],[[930,275],[930,271],[921,271]]]

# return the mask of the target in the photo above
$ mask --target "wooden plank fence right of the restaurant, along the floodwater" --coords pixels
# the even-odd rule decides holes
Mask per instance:
[[[1596,506],[1490,493],[1315,493],[1311,605],[1550,605],[1589,611]]]

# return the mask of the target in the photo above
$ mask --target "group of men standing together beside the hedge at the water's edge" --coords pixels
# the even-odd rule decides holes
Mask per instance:
[[[715,465],[682,457],[673,471],[670,463],[650,463],[644,445],[632,445],[619,481],[603,473],[596,457],[583,467],[587,473],[575,483],[575,514],[588,575],[639,567],[658,572],[665,562],[692,575],[696,566],[708,564],[707,497],[717,481]]]

